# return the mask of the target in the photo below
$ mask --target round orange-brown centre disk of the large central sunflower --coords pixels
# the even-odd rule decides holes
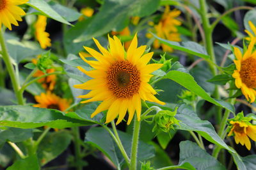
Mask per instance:
[[[140,89],[140,72],[127,60],[114,62],[107,75],[108,89],[118,98],[130,98]]]

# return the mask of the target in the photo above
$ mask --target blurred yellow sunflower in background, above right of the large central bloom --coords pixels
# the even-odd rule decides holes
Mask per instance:
[[[169,41],[181,41],[180,34],[177,29],[177,26],[181,25],[181,22],[176,19],[179,17],[180,13],[181,12],[179,10],[170,11],[170,6],[166,6],[158,24],[154,25],[154,23],[150,22],[149,25],[154,25],[154,29],[150,31],[155,32],[158,37]],[[147,38],[152,38],[152,34],[147,34]],[[160,43],[158,39],[155,39],[153,47],[160,48],[160,46],[163,48],[164,52],[173,51],[170,46],[164,45]]]

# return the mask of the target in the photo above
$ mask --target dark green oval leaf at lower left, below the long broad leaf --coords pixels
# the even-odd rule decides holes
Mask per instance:
[[[55,159],[70,145],[72,135],[68,132],[51,132],[45,136],[38,146],[38,159],[44,166],[47,162]]]

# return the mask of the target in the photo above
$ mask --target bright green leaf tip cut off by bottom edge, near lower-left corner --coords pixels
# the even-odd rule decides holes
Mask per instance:
[[[36,155],[31,155],[25,159],[19,159],[12,166],[8,167],[7,170],[39,170],[38,159]]]

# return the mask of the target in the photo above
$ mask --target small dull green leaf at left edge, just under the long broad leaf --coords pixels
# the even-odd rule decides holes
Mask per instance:
[[[32,129],[19,129],[10,127],[4,131],[0,131],[0,143],[11,141],[13,143],[22,142],[33,136]]]

